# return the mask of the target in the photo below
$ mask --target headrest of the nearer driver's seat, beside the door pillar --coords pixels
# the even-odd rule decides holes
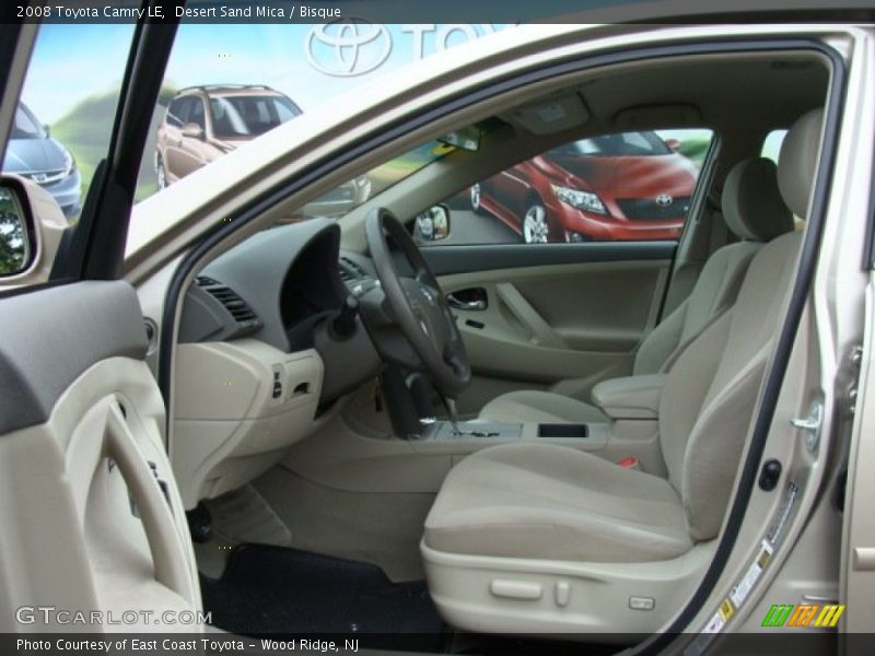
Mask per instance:
[[[778,187],[784,202],[800,219],[808,218],[822,125],[822,109],[803,114],[786,133],[778,157]]]

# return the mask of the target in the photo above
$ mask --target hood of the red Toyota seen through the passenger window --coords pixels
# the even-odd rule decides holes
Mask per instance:
[[[637,198],[663,191],[691,194],[696,186],[695,165],[676,153],[625,157],[550,155],[539,160],[557,181],[596,194]]]

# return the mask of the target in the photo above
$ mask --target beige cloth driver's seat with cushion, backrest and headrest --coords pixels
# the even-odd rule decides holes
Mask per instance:
[[[800,216],[807,212],[820,126],[820,112],[806,114],[781,150],[779,185]],[[451,470],[425,520],[424,547],[516,559],[653,562],[716,537],[801,244],[802,234],[792,232],[763,246],[735,305],[668,372],[658,419],[667,480],[571,447],[493,446]],[[435,572],[430,577],[440,576]]]

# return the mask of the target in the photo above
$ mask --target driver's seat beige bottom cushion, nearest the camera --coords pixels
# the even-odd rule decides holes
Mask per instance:
[[[668,481],[530,443],[459,462],[429,513],[424,541],[453,553],[588,562],[668,560],[692,547]]]

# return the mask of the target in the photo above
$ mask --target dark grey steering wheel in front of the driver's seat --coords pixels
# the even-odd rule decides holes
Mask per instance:
[[[389,361],[419,364],[444,397],[455,398],[470,382],[468,355],[441,285],[404,225],[386,209],[375,208],[365,218],[365,236],[385,296],[383,315],[412,347],[418,363],[405,356],[404,344],[390,335],[372,335],[376,348]],[[412,277],[400,276],[389,244],[407,260]],[[385,307],[387,305],[387,307]],[[388,309],[388,313],[385,311]],[[384,337],[386,339],[381,339]]]

